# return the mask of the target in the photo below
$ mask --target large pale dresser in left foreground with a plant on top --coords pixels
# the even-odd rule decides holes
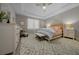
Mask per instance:
[[[0,23],[0,55],[15,53],[20,34],[16,24]]]

